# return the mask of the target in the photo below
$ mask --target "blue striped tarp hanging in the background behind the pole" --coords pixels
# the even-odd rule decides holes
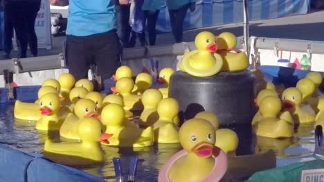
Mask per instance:
[[[156,30],[170,32],[168,9],[164,3],[165,1],[159,13]],[[306,14],[309,7],[309,0],[249,0],[249,19],[254,21]],[[200,0],[195,12],[188,10],[183,28],[188,30],[240,22],[243,22],[242,0]]]

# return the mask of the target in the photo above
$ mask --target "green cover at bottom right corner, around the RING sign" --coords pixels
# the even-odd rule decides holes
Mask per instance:
[[[304,163],[294,163],[291,165],[286,165],[280,168],[274,168],[271,170],[264,170],[261,172],[256,172],[249,178],[249,182],[267,182],[267,181],[300,181],[301,174],[303,170],[314,170],[314,169],[323,169],[324,161],[323,160],[314,160],[307,161]]]

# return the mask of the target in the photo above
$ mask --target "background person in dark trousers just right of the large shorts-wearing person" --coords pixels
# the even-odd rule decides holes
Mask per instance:
[[[149,35],[150,45],[155,45],[156,41],[156,20],[161,10],[161,0],[145,0],[142,5],[142,17],[143,17],[143,32],[138,33],[138,39],[141,45],[147,45],[145,39],[145,25],[147,21],[147,32]]]

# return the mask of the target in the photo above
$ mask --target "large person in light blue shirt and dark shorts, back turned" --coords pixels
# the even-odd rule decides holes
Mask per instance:
[[[66,65],[76,80],[88,79],[91,65],[98,68],[101,90],[121,65],[114,0],[49,0],[69,6],[66,29]],[[117,1],[117,0],[116,0]],[[120,5],[129,0],[119,0]],[[128,21],[127,21],[128,23]]]

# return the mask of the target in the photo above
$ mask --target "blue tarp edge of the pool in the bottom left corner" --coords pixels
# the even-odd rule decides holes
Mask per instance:
[[[41,155],[26,154],[0,145],[0,181],[104,182],[80,170],[53,163]]]

